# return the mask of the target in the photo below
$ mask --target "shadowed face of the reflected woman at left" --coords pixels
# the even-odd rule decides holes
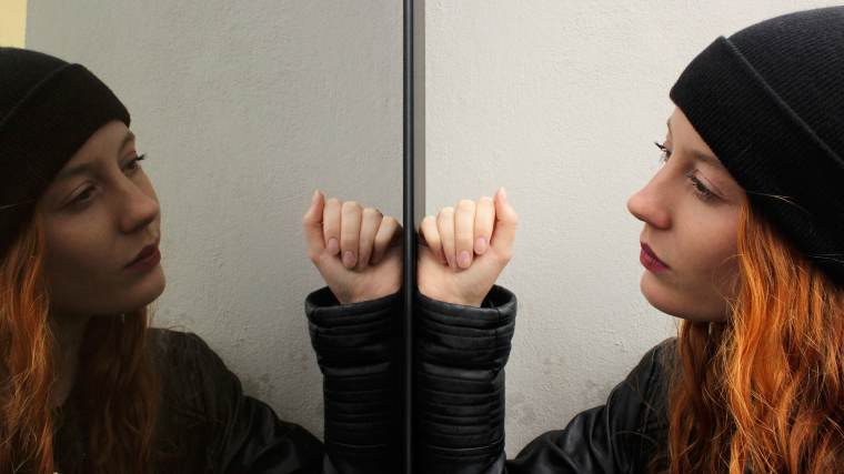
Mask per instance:
[[[120,121],[100,128],[71,158],[38,203],[47,238],[51,313],[117,315],[164,290],[153,258],[127,266],[161,236],[158,198],[140,168],[134,135]]]

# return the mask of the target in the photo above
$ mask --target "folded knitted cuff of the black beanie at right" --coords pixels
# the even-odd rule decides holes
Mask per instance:
[[[844,282],[841,157],[724,37],[689,64],[670,95],[754,209]]]

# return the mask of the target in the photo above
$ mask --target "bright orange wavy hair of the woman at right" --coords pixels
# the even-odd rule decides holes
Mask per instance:
[[[736,259],[730,317],[679,330],[669,472],[844,472],[844,291],[746,201]]]

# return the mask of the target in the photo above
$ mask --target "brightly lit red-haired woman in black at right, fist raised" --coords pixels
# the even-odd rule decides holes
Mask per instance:
[[[499,192],[428,218],[420,470],[844,472],[842,84],[842,7],[754,24],[692,61],[671,90],[665,164],[627,202],[644,222],[641,290],[685,320],[679,336],[512,461],[503,366],[516,305],[493,282],[515,213]]]

